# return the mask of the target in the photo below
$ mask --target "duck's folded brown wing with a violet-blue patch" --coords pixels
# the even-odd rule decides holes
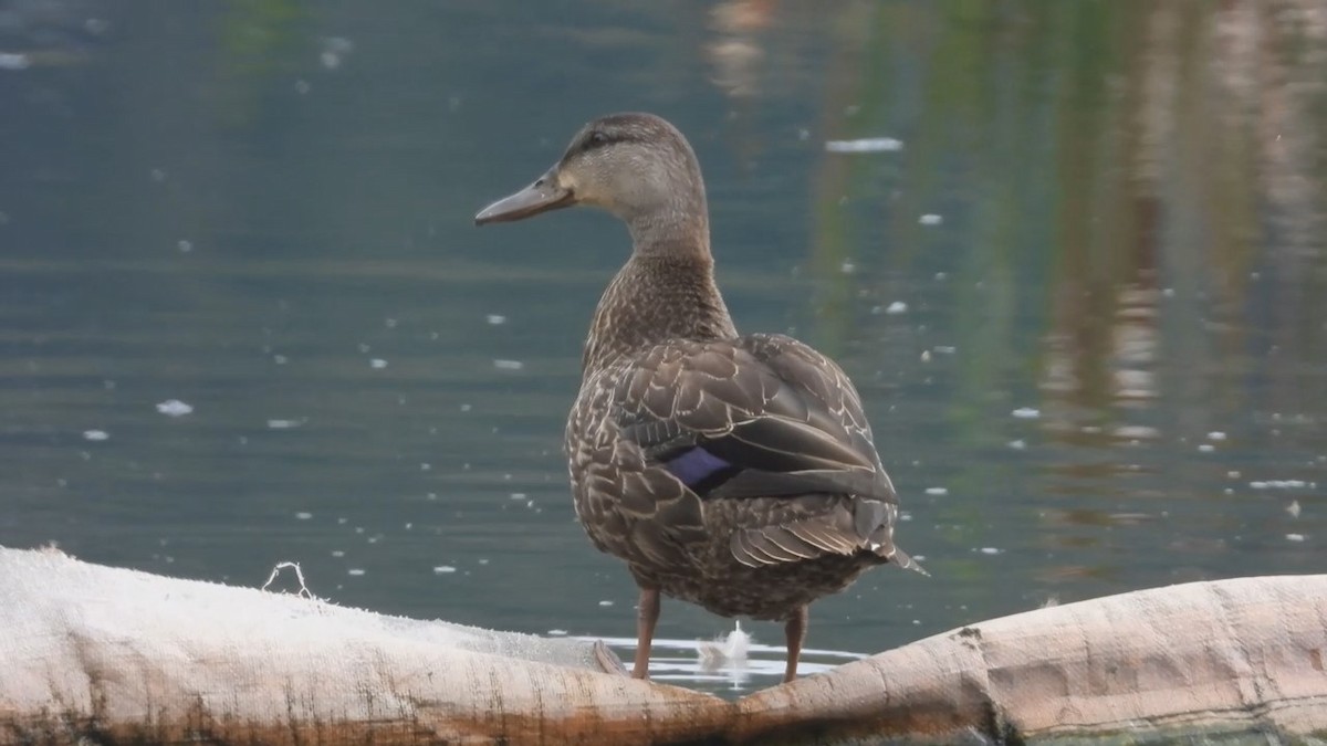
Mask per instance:
[[[897,500],[852,382],[790,337],[658,345],[613,400],[621,437],[702,498]]]

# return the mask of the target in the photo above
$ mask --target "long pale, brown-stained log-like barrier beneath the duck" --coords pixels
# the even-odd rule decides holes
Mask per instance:
[[[738,702],[602,646],[0,548],[0,743],[1327,738],[1327,576],[974,624]]]

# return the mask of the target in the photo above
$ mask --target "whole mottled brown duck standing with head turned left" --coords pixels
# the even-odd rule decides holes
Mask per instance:
[[[606,210],[632,239],[594,309],[564,438],[576,516],[640,593],[632,676],[649,678],[666,596],[782,621],[792,681],[812,601],[876,565],[924,572],[894,544],[898,496],[861,397],[809,345],[738,333],[715,281],[699,162],[666,119],[585,123],[475,223],[576,204]]]

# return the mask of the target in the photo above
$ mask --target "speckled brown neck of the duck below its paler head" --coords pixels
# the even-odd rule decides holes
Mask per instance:
[[[634,226],[632,234],[636,236]],[[709,240],[703,244],[671,240],[670,236],[667,243],[637,243],[636,252],[604,291],[585,341],[585,376],[665,340],[736,336],[714,283]]]

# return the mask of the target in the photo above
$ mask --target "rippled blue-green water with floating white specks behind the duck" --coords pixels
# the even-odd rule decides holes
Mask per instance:
[[[630,636],[559,454],[625,232],[470,223],[648,109],[739,327],[853,376],[932,572],[819,603],[808,666],[1323,571],[1314,4],[31,0],[0,54],[5,546]],[[733,623],[665,601],[660,676],[767,685],[782,633],[744,629],[705,672]]]

